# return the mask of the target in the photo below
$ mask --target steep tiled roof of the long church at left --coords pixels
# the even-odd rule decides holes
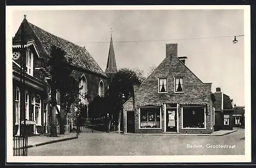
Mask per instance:
[[[26,40],[35,40],[39,50],[39,55],[49,56],[51,47],[56,45],[66,52],[67,57],[73,58],[73,66],[106,77],[103,70],[84,47],[52,35],[47,31],[28,22],[26,19],[23,20],[23,23],[25,26]],[[14,43],[18,43],[20,41],[20,29],[21,28],[19,27],[13,38]]]

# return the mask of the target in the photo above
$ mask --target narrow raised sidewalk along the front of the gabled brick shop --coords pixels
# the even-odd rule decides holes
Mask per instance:
[[[122,135],[196,135],[196,136],[223,136],[227,135],[233,132],[236,132],[237,130],[220,130],[220,131],[215,131],[212,134],[180,134],[180,133],[159,133],[159,134],[145,134],[145,133],[125,133]]]

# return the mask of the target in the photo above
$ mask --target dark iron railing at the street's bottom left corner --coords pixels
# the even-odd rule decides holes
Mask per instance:
[[[28,156],[28,136],[13,136],[13,156]]]

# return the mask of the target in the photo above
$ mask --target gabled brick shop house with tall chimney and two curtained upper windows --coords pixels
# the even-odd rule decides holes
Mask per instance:
[[[211,83],[203,83],[178,57],[178,44],[166,44],[166,57],[123,105],[124,133],[214,132]]]

